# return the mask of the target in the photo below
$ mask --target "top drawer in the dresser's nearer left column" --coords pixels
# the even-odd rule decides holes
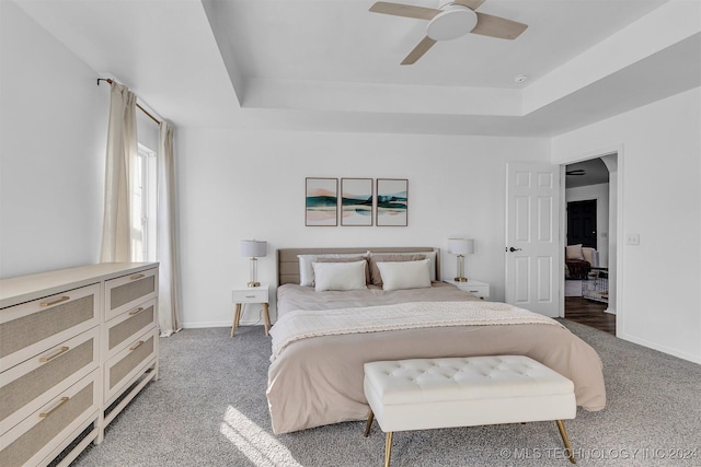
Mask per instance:
[[[100,284],[0,310],[0,371],[97,325]]]

